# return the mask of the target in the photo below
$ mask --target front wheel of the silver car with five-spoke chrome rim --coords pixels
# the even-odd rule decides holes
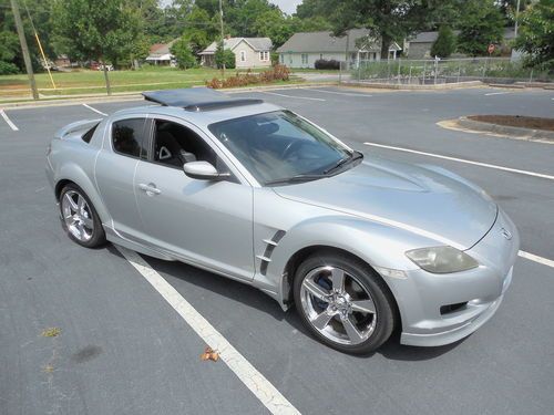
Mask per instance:
[[[311,255],[298,267],[293,290],[305,326],[332,349],[368,354],[392,333],[392,294],[358,258],[336,251]]]

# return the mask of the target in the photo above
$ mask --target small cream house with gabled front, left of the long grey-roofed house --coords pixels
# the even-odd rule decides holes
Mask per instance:
[[[270,51],[273,48],[269,38],[227,38],[224,40],[225,50],[235,53],[236,68],[265,68],[271,65]],[[212,42],[198,54],[203,66],[215,66],[215,51],[217,42]]]

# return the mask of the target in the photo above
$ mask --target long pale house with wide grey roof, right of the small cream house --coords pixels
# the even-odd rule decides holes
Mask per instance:
[[[295,33],[277,49],[279,62],[289,68],[315,68],[317,60],[345,61],[347,54],[349,65],[353,68],[357,68],[360,61],[379,61],[381,60],[381,42],[359,43],[359,40],[367,39],[368,34],[366,29],[349,30],[348,35],[343,37],[334,37],[332,32],[328,31]],[[389,56],[384,59],[397,59],[400,50],[400,46],[393,42],[389,49]]]

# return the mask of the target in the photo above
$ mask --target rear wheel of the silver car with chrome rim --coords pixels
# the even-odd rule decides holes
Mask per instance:
[[[66,185],[60,194],[62,227],[71,240],[85,248],[105,242],[105,232],[94,206],[76,185]]]

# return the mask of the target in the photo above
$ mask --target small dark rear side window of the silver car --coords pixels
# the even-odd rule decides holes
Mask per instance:
[[[112,124],[112,144],[116,153],[146,158],[145,118],[129,118]]]

